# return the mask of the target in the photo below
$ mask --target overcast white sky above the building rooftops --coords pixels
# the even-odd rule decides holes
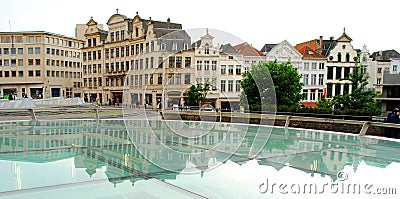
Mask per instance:
[[[0,31],[41,30],[74,36],[75,24],[90,17],[105,24],[119,13],[181,23],[184,29],[210,28],[228,32],[257,49],[265,43],[288,40],[292,45],[333,36],[346,27],[355,48],[370,53],[400,50],[400,1],[352,0],[2,0]],[[399,51],[400,52],[400,51]]]

